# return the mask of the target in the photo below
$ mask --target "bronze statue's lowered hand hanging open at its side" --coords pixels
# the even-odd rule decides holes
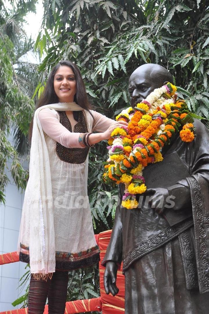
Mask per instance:
[[[106,263],[105,273],[104,273],[104,286],[106,294],[111,294],[115,296],[119,289],[116,286],[116,277],[117,277],[117,263],[109,261]]]

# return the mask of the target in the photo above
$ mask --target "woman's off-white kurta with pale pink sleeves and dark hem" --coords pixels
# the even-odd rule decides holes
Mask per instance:
[[[91,111],[94,120],[87,111],[82,112],[88,132],[104,132],[114,123],[96,111]],[[59,114],[54,109],[42,109],[38,117],[44,132],[51,170],[56,269],[70,270],[90,265],[98,261],[99,250],[87,194],[88,155],[82,163],[61,160],[56,151],[57,143],[67,148],[82,148],[80,133],[67,130],[59,122]],[[27,232],[24,237],[20,245],[20,260],[29,262]]]

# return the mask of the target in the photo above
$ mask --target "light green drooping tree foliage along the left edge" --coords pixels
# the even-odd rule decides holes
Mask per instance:
[[[28,171],[23,169],[22,160],[20,160],[16,148],[19,145],[19,151],[22,154],[28,151],[26,136],[34,111],[34,101],[28,96],[30,94],[27,93],[27,85],[24,84],[24,81],[19,80],[20,71],[24,76],[23,68],[16,66],[18,70],[14,69],[14,63],[31,50],[32,41],[28,39],[25,40],[25,43],[23,41],[25,35],[20,27],[23,21],[20,9],[15,11],[16,13],[14,10],[8,12],[2,2],[0,6],[2,7],[0,13],[0,202],[5,203],[4,191],[9,182],[7,161],[10,160],[12,163],[9,171],[11,171],[17,187],[24,190],[26,186]],[[25,10],[27,11],[26,7]],[[13,14],[10,18],[9,13]],[[18,38],[19,41],[17,41]],[[25,78],[27,78],[26,71]],[[12,145],[8,141],[11,129],[16,133],[17,145]],[[25,143],[25,147],[22,143]]]

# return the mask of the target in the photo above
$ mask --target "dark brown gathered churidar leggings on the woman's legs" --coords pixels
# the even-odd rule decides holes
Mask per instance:
[[[52,279],[36,280],[31,275],[28,314],[43,314],[48,297],[48,314],[64,314],[67,298],[68,272],[56,270]]]

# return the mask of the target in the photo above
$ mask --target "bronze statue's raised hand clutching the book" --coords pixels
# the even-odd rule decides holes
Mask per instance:
[[[146,194],[150,196],[149,204],[155,212],[162,215],[167,203],[167,197],[169,196],[168,190],[163,187],[157,187],[152,189],[147,189]]]

